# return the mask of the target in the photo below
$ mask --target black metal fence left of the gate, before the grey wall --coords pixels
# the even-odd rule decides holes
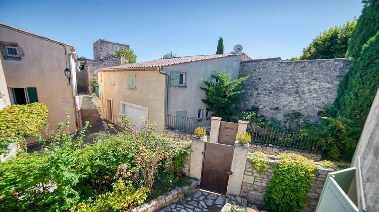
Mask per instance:
[[[167,114],[166,128],[180,130],[186,133],[194,133],[197,127],[202,127],[207,130],[207,135],[211,129],[211,120],[198,119],[195,117],[178,116]]]

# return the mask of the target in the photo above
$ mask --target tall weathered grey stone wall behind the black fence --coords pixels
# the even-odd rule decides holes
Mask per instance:
[[[350,61],[345,58],[243,61],[239,77],[250,75],[250,78],[241,84],[245,92],[239,108],[248,110],[254,105],[260,115],[277,120],[283,120],[286,113],[298,111],[317,122],[317,112],[333,103],[338,83],[349,67]]]

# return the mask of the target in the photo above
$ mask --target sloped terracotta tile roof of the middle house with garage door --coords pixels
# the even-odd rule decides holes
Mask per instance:
[[[160,59],[160,60],[145,61],[145,62],[139,62],[139,63],[123,64],[123,65],[119,65],[119,66],[105,67],[105,68],[99,69],[99,71],[115,70],[115,69],[120,70],[120,69],[157,68],[157,67],[164,67],[164,66],[181,64],[181,63],[188,63],[188,62],[194,62],[194,61],[203,61],[203,60],[209,60],[209,59],[224,58],[224,57],[235,56],[235,55],[245,55],[245,53],[239,53],[239,54],[229,53],[229,54],[194,55],[194,56],[174,57],[174,58],[168,58],[168,59]]]

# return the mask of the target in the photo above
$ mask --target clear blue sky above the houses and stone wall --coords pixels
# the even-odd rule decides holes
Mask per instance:
[[[320,32],[359,17],[360,0],[15,1],[0,0],[0,22],[74,45],[93,58],[98,39],[130,45],[137,62],[214,54],[235,44],[252,58],[301,55]]]

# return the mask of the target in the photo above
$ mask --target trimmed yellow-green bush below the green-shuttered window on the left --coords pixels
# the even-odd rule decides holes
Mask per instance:
[[[18,136],[39,136],[40,130],[46,126],[48,107],[41,103],[25,105],[9,105],[0,111],[0,138]],[[0,140],[0,153],[6,153],[9,142],[15,140]],[[22,142],[20,142],[22,146]]]

